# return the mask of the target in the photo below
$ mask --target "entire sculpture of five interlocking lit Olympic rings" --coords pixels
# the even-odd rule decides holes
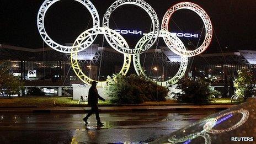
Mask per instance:
[[[167,13],[164,15],[164,18],[162,21],[162,29],[160,30],[159,20],[156,12],[150,6],[150,4],[146,3],[143,0],[115,1],[113,4],[111,4],[108,10],[106,10],[106,13],[104,14],[104,18],[103,18],[102,27],[100,27],[98,11],[94,7],[92,2],[90,2],[89,0],[73,0],[83,4],[83,6],[85,6],[89,10],[93,19],[93,28],[90,28],[84,31],[82,34],[80,34],[76,39],[76,41],[74,42],[73,46],[63,46],[50,38],[44,26],[44,19],[45,19],[45,14],[47,10],[52,6],[52,4],[58,1],[61,1],[61,0],[46,0],[44,3],[42,3],[39,9],[38,17],[37,17],[37,25],[38,25],[39,33],[42,39],[44,40],[44,42],[48,46],[50,46],[52,49],[59,52],[66,53],[66,54],[71,54],[71,65],[73,67],[73,71],[76,73],[77,77],[86,84],[90,84],[94,80],[90,79],[89,77],[86,76],[86,74],[82,72],[81,68],[79,67],[79,63],[77,61],[77,53],[87,49],[90,45],[92,45],[94,40],[97,38],[98,34],[104,35],[104,38],[106,39],[108,44],[113,49],[115,49],[116,51],[124,55],[124,63],[119,73],[124,75],[127,73],[131,64],[131,56],[133,56],[133,62],[134,62],[136,73],[139,76],[145,76],[145,77],[147,76],[140,64],[140,54],[150,49],[156,43],[159,37],[163,38],[168,48],[172,50],[175,54],[181,56],[182,62],[180,63],[179,71],[177,72],[177,74],[175,74],[173,78],[168,79],[165,82],[157,82],[157,84],[161,86],[169,86],[171,84],[177,83],[179,79],[182,78],[185,74],[186,68],[188,66],[188,57],[199,55],[202,52],[204,52],[207,49],[207,47],[209,47],[212,39],[212,24],[211,24],[210,18],[204,9],[202,9],[201,7],[199,7],[194,3],[182,2],[182,3],[175,4],[173,7],[171,7],[167,11]],[[141,38],[137,42],[135,49],[130,49],[126,40],[120,34],[116,33],[116,31],[109,28],[109,18],[111,14],[114,12],[116,8],[120,6],[124,6],[126,4],[131,4],[131,5],[142,8],[147,12],[147,14],[150,16],[152,20],[152,31],[146,34],[145,36],[143,36],[143,38]],[[186,50],[183,42],[177,36],[170,34],[170,32],[168,31],[169,19],[172,16],[172,14],[179,9],[193,10],[193,12],[198,14],[202,19],[202,21],[204,22],[205,29],[206,29],[205,40],[203,44],[194,51]],[[105,86],[106,81],[99,82],[99,83],[100,83],[99,84],[100,86]]]

